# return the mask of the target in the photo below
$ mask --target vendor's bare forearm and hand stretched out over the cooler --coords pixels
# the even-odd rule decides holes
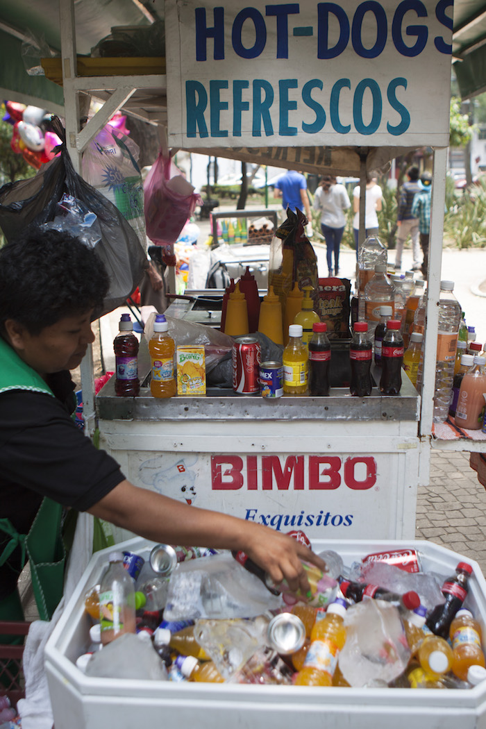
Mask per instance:
[[[293,590],[307,593],[301,560],[325,569],[307,547],[279,531],[221,512],[188,506],[122,481],[88,510],[99,518],[140,534],[152,542],[243,550],[275,582],[283,578]]]

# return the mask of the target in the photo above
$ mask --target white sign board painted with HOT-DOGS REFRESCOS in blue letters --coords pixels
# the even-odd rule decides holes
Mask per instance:
[[[176,147],[447,147],[452,0],[165,4]]]

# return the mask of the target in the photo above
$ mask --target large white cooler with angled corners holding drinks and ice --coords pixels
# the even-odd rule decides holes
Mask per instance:
[[[146,539],[117,548],[148,558]],[[447,577],[459,561],[474,569],[466,607],[485,630],[486,582],[477,562],[431,542],[313,540],[346,566],[364,555],[415,547],[424,571]],[[99,582],[111,548],[96,553],[45,649],[55,729],[486,729],[486,682],[470,690],[197,684],[88,678],[74,665],[90,639],[85,590]]]

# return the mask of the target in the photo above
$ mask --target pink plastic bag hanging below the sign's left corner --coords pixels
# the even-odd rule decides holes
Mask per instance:
[[[161,150],[144,182],[146,234],[152,243],[175,243],[195,207],[202,203],[192,184]]]

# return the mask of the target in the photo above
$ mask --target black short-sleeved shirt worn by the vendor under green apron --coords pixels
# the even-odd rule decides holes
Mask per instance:
[[[86,511],[124,480],[117,461],[98,451],[70,417],[74,384],[51,375],[55,397],[10,390],[0,394],[0,518],[26,534],[44,496]],[[8,538],[0,531],[0,555]],[[8,566],[7,566],[8,565]],[[0,597],[15,588],[19,552],[0,567]]]

